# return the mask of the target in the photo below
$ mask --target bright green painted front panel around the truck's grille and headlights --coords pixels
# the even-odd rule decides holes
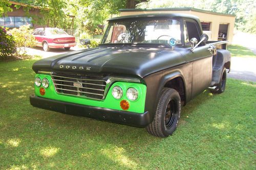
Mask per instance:
[[[144,113],[145,108],[145,98],[146,98],[146,86],[141,83],[131,83],[131,82],[115,82],[111,87],[106,95],[106,98],[102,101],[82,98],[79,96],[69,96],[65,94],[58,94],[55,91],[52,79],[50,75],[44,75],[44,74],[36,74],[35,77],[39,77],[40,79],[47,78],[49,80],[49,87],[46,88],[45,95],[41,95],[39,93],[39,88],[42,87],[35,87],[35,94],[37,96],[40,96],[42,98],[48,98],[53,100],[58,100],[62,102],[70,102],[75,104],[81,104],[81,105],[88,105],[88,106],[96,106],[96,107],[102,107],[102,108],[109,108],[109,109],[115,109],[115,110],[122,110],[120,107],[120,101],[121,100],[127,100],[130,103],[130,108],[127,111],[130,112],[136,112],[136,113]],[[112,89],[114,86],[119,86],[123,90],[123,96],[121,99],[115,99],[112,96]],[[129,87],[134,87],[138,90],[138,99],[136,101],[130,101],[126,98],[126,90]]]

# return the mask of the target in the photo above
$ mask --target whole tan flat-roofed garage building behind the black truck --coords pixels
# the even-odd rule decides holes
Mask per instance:
[[[120,9],[120,15],[138,15],[150,13],[185,13],[196,15],[201,21],[203,31],[210,40],[228,40],[232,42],[235,15],[210,12],[195,8],[155,8],[155,9]]]

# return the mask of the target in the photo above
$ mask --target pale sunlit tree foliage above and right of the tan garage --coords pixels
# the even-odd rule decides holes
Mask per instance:
[[[255,33],[255,0],[151,0],[142,3],[139,8],[176,8],[193,7],[212,12],[236,15],[235,27],[241,31]]]

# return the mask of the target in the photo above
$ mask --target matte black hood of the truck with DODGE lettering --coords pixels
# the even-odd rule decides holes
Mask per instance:
[[[33,70],[100,72],[141,78],[159,70],[185,63],[178,48],[97,47],[36,61]]]

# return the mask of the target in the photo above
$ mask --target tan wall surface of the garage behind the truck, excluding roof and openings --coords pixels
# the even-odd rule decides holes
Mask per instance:
[[[219,25],[222,23],[228,23],[228,31],[227,31],[227,40],[229,44],[232,43],[233,39],[233,31],[234,31],[234,16],[225,16],[225,15],[217,15],[210,13],[202,13],[196,11],[121,11],[121,16],[125,15],[138,15],[138,14],[152,14],[152,13],[184,13],[196,15],[199,17],[200,21],[211,22],[210,31],[211,31],[211,39],[218,40],[219,35]]]

